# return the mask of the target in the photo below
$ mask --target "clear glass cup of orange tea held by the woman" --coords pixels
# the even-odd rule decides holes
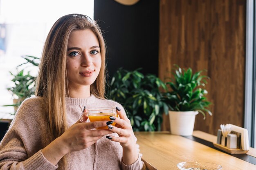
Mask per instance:
[[[79,120],[81,122],[83,121],[83,116],[84,113],[81,113],[79,116]],[[101,120],[110,120],[110,116],[114,116],[117,117],[117,111],[116,111],[116,107],[98,107],[98,108],[91,108],[88,109],[88,119],[90,120],[90,122],[95,122],[95,121],[101,121]],[[115,122],[112,123],[112,126],[115,126]],[[97,129],[108,129],[108,126],[103,126],[103,127],[99,127]]]

